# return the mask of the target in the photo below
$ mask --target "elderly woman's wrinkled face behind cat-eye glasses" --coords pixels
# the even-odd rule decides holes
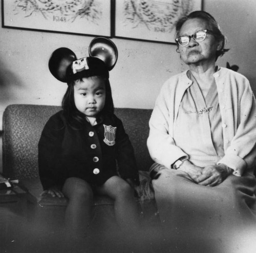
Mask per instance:
[[[180,29],[181,35],[192,35],[199,30],[211,30],[207,22],[200,18],[188,19]],[[206,62],[215,62],[216,51],[220,50],[221,41],[217,41],[214,35],[207,33],[203,41],[196,41],[190,38],[187,46],[179,45],[178,52],[181,59],[187,65],[204,65]]]

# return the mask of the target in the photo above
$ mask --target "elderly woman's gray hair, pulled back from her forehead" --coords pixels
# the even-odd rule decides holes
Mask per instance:
[[[178,20],[178,22],[176,23],[176,38],[180,36],[180,30],[181,30],[181,27],[183,26],[183,24],[188,19],[193,19],[193,18],[200,18],[200,19],[205,20],[208,23],[208,25],[209,25],[212,33],[214,34],[215,38],[218,41],[222,41],[221,49],[216,52],[216,60],[217,60],[219,56],[222,56],[223,54],[225,54],[229,49],[224,48],[225,44],[226,44],[226,37],[222,34],[220,26],[217,23],[217,21],[215,20],[215,18],[213,16],[211,16],[208,12],[206,12],[206,11],[193,11],[193,12],[189,13],[187,16],[181,17]],[[177,44],[177,46],[179,47],[178,44]]]

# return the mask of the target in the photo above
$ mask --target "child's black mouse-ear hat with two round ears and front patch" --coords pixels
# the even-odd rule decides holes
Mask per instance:
[[[77,59],[68,48],[56,49],[49,59],[49,70],[61,82],[70,82],[82,77],[103,75],[109,78],[116,64],[116,45],[108,38],[96,37],[89,46],[89,57]]]

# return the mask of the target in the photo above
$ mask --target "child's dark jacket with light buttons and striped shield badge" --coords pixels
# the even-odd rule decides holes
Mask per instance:
[[[115,115],[102,115],[93,127],[84,122],[82,128],[74,129],[63,111],[56,113],[42,131],[38,166],[44,189],[62,187],[69,177],[101,185],[118,173],[139,183],[132,144]]]

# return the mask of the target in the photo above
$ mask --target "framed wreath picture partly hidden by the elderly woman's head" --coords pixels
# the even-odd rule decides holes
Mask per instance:
[[[175,44],[175,24],[202,0],[117,0],[115,37]]]

